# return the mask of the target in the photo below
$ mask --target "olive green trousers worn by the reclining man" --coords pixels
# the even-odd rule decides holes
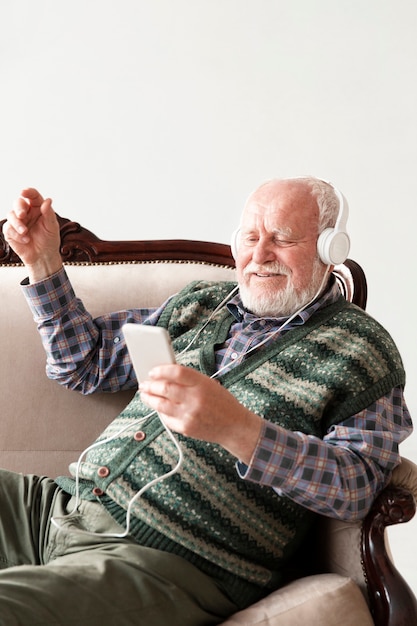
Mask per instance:
[[[1,626],[209,626],[237,610],[184,559],[100,535],[122,529],[98,502],[72,508],[53,480],[0,470]]]

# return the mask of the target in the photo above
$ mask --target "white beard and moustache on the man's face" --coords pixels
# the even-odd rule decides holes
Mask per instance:
[[[252,272],[253,270],[253,266],[248,266],[245,268],[244,273],[248,271]],[[290,276],[288,269],[280,264],[258,267],[257,271],[259,273],[279,272]],[[296,291],[291,280],[289,280],[284,289],[280,289],[275,293],[265,293],[260,296],[254,296],[246,285],[239,284],[242,304],[245,309],[259,317],[284,317],[292,315],[296,311],[304,308],[319,295],[318,292],[322,287],[323,276],[323,265],[317,258],[314,261],[310,284],[301,291]]]

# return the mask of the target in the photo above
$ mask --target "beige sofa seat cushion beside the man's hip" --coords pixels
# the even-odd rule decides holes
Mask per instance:
[[[223,626],[374,626],[359,587],[338,574],[300,578],[239,611]]]

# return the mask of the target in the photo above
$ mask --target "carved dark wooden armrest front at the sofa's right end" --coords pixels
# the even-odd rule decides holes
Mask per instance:
[[[362,526],[362,559],[375,624],[417,624],[416,598],[388,556],[385,529],[408,522],[415,514],[411,491],[388,485],[375,499]]]

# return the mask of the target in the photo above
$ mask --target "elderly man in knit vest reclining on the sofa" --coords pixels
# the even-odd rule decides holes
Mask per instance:
[[[82,393],[136,387],[126,322],[168,329],[177,362],[70,476],[2,473],[0,624],[218,624],[288,579],[316,513],[366,515],[412,425],[394,342],[331,275],[343,204],[319,179],[268,181],[243,211],[237,285],[92,319],[51,201],[22,192],[4,232],[48,375]]]

